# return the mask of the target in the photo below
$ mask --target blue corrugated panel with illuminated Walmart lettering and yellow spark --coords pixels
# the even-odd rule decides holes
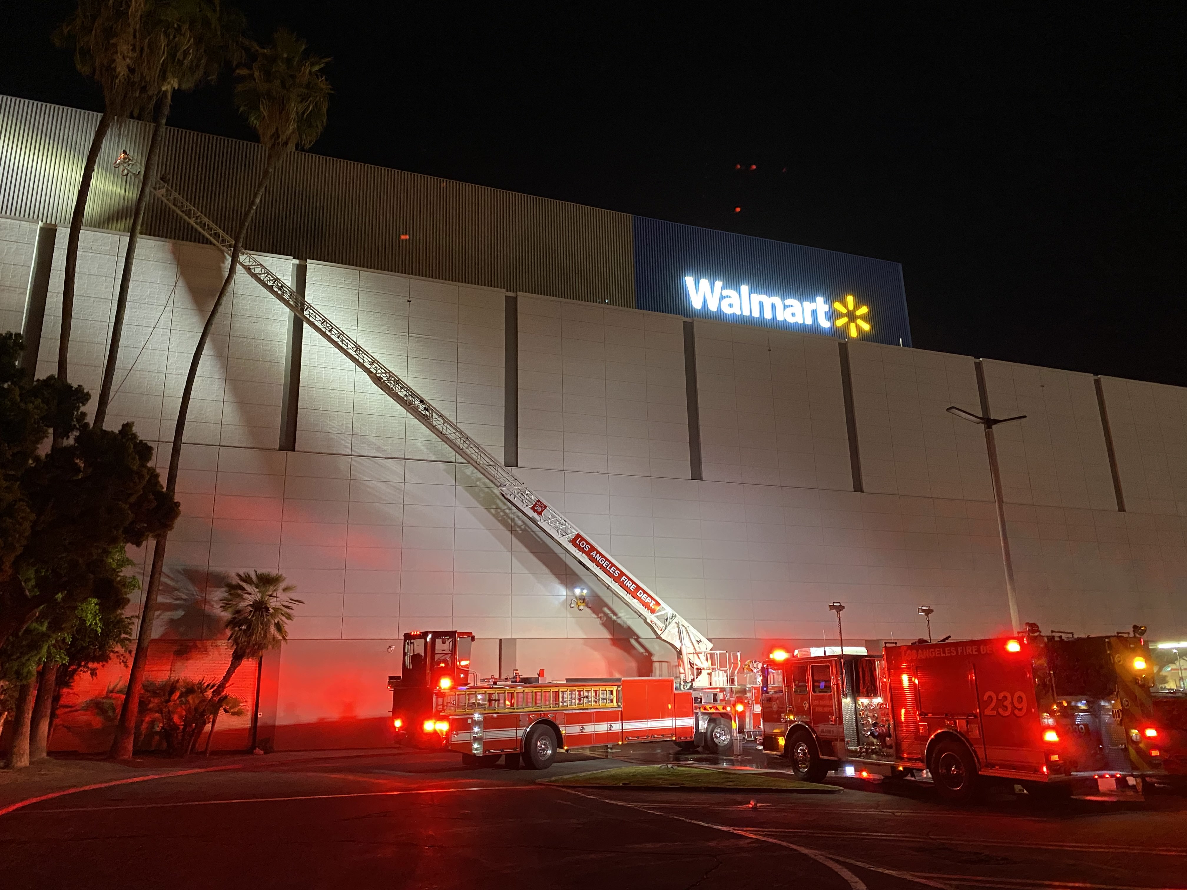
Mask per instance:
[[[910,345],[902,266],[634,217],[635,306]]]

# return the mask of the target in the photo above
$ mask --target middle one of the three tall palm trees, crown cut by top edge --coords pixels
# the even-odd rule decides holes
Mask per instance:
[[[152,61],[159,64],[145,65],[145,88],[155,96],[157,112],[153,121],[152,140],[145,154],[145,174],[140,179],[140,192],[132,211],[132,227],[123,255],[123,272],[120,291],[115,299],[115,317],[112,320],[112,342],[107,349],[103,382],[95,401],[95,426],[103,428],[107,406],[112,400],[112,383],[115,381],[115,362],[123,336],[123,317],[128,309],[128,291],[132,287],[132,267],[135,261],[140,225],[148,204],[148,183],[157,176],[160,145],[165,135],[173,93],[189,91],[202,83],[212,83],[223,64],[237,64],[242,59],[243,17],[237,9],[226,7],[222,0],[159,0],[152,5],[148,27],[151,37],[145,40]],[[160,47],[159,56],[155,47]]]

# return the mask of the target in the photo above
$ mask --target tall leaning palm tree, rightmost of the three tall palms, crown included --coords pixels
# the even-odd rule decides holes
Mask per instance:
[[[250,46],[252,64],[235,71],[239,83],[235,87],[235,104],[255,128],[260,144],[265,148],[265,169],[255,186],[255,192],[235,231],[231,247],[230,266],[223,279],[215,304],[210,309],[207,323],[202,326],[190,370],[185,376],[182,390],[182,402],[177,409],[177,425],[173,427],[173,449],[170,452],[169,476],[165,491],[170,498],[177,491],[177,472],[182,462],[182,441],[185,437],[185,419],[190,411],[190,399],[193,395],[193,383],[198,376],[198,365],[205,351],[207,341],[214,328],[215,317],[222,307],[223,299],[230,291],[239,268],[239,255],[243,249],[243,237],[255,215],[264,190],[272,178],[277,165],[290,152],[300,146],[309,148],[325,128],[325,109],[330,100],[330,84],[322,74],[328,58],[307,52],[307,45],[291,31],[280,28],[273,36],[273,45],[268,47]],[[148,643],[152,641],[153,617],[157,611],[157,596],[160,590],[161,570],[165,566],[165,545],[169,533],[157,536],[153,546],[152,567],[148,571],[148,584],[145,587],[144,605],[140,610],[140,635],[137,638],[137,651],[132,659],[132,672],[128,676],[128,692],[123,698],[123,711],[120,724],[112,742],[112,757],[128,759],[132,757],[135,714],[140,700],[140,684],[148,661]]]

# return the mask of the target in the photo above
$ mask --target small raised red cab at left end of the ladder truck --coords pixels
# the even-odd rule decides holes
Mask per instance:
[[[413,630],[404,635],[402,672],[387,678],[396,743],[440,746],[433,726],[433,693],[466,686],[474,634],[464,630]]]

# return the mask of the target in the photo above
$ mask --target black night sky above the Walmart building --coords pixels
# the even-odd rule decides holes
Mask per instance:
[[[895,260],[919,348],[1187,386],[1187,6],[965,6],[240,4],[332,56],[315,152]],[[71,7],[2,5],[0,93],[102,108]],[[229,78],[170,122],[252,138]]]

